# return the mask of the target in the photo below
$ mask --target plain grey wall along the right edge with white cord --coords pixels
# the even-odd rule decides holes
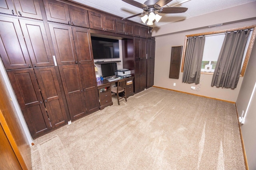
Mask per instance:
[[[254,42],[254,47],[250,59],[248,61],[248,66],[244,74],[244,80],[236,100],[236,107],[238,115],[241,116],[242,111],[246,111],[248,102],[250,100],[254,84],[256,82],[256,41]],[[246,151],[246,157],[248,161],[248,166],[250,170],[256,169],[256,93],[252,98],[252,102],[248,109],[245,122],[241,124],[242,136],[244,139],[244,147]]]

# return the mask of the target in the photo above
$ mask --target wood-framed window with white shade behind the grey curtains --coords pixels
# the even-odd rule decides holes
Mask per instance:
[[[204,45],[204,53],[203,53],[203,59],[202,59],[202,64],[201,64],[201,72],[210,72],[213,74],[216,63],[218,61],[222,43],[225,38],[226,31],[236,31],[236,30],[240,30],[240,29],[254,29],[255,30],[256,25],[252,25],[252,26],[248,26],[248,27],[234,28],[234,29],[229,29],[229,30],[208,32],[208,33],[199,33],[199,34],[195,34],[195,35],[186,35],[186,37],[205,35],[205,45]],[[244,72],[245,72],[249,57],[250,57],[250,53],[252,51],[252,46],[254,44],[255,37],[256,37],[256,32],[251,31],[248,41],[246,43],[245,51],[244,51],[244,57],[243,57],[242,66],[241,66],[241,75],[242,76],[244,76]],[[185,45],[184,45],[181,72],[183,72],[183,70],[184,70],[186,43],[187,43],[187,39],[186,39]]]

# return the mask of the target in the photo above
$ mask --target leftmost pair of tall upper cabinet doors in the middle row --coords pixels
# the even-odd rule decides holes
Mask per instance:
[[[6,69],[54,65],[54,50],[43,21],[0,16],[0,36],[0,56]]]

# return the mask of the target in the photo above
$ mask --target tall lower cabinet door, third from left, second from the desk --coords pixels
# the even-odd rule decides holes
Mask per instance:
[[[74,121],[87,115],[78,64],[59,66],[59,70],[70,117]]]

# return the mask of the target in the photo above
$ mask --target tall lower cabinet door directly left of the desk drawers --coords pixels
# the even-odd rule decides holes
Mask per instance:
[[[96,83],[94,64],[80,64],[82,86],[88,113],[99,110],[99,94]]]

